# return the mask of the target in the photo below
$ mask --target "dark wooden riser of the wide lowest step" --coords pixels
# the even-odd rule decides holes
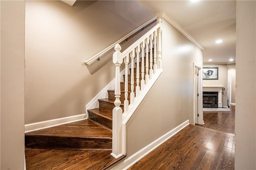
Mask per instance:
[[[26,148],[61,150],[112,149],[111,138],[25,136]]]

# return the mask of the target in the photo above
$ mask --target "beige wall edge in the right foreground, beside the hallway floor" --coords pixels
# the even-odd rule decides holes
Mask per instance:
[[[235,169],[256,169],[256,1],[237,1]]]

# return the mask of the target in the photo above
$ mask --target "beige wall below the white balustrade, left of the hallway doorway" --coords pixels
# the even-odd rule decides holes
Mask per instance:
[[[202,50],[163,20],[163,72],[126,125],[127,158],[193,118],[193,63]]]

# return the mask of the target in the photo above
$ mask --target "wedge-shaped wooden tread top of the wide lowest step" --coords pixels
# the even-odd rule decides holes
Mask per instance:
[[[89,119],[60,125],[57,127],[46,128],[34,132],[26,133],[25,136],[61,136],[61,137],[93,137],[93,138],[112,138],[112,131],[104,128]]]

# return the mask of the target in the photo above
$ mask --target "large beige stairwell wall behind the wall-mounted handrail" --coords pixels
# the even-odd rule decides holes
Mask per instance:
[[[114,79],[113,51],[83,62],[153,17],[137,1],[26,1],[25,124],[85,113]]]

